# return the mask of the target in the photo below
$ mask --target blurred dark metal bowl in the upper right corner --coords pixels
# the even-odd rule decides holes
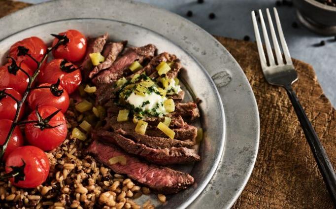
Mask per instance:
[[[317,0],[293,0],[300,22],[315,33],[336,35],[336,7]]]

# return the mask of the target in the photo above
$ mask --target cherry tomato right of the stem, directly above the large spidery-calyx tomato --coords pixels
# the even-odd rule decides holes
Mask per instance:
[[[50,85],[52,84],[43,83],[38,87],[50,86]],[[31,109],[34,110],[36,105],[38,106],[49,105],[54,106],[57,109],[61,109],[61,111],[65,113],[70,104],[69,96],[67,94],[67,91],[63,89],[62,86],[59,86],[58,90],[63,90],[63,93],[60,96],[54,95],[50,88],[34,89],[33,91],[31,91],[31,93],[27,98],[29,106],[31,107]]]

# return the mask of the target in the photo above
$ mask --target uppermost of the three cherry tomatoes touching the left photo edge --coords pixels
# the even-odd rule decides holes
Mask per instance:
[[[11,73],[8,70],[10,63],[0,67],[0,88],[13,88],[22,94],[28,85],[29,78],[21,70]],[[33,75],[33,71],[24,63],[21,63],[21,68],[25,70],[28,74]]]

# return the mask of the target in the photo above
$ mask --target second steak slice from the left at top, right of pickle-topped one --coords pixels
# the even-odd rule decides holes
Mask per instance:
[[[103,69],[107,69],[112,66],[118,55],[123,51],[127,44],[127,40],[121,42],[109,42],[105,44],[102,56],[105,57],[105,61],[96,66],[89,74],[90,78],[93,78],[97,73]]]

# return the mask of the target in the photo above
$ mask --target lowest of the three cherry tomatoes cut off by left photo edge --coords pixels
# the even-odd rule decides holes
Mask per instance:
[[[10,126],[12,125],[13,121],[8,119],[0,119],[0,144],[2,145],[7,138],[9,133]],[[23,146],[23,136],[21,134],[20,128],[16,126],[14,128],[13,134],[9,139],[7,149],[4,152],[3,160],[6,160],[8,155],[19,146]]]

